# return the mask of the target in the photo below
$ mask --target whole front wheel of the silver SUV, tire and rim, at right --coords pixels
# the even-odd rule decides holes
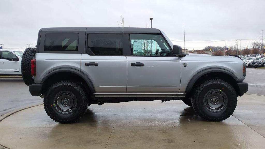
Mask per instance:
[[[235,89],[224,80],[208,80],[195,91],[192,106],[206,121],[222,121],[235,111],[237,94]]]

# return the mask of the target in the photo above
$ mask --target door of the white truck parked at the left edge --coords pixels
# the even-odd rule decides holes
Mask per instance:
[[[12,61],[12,58],[18,58],[11,51],[0,51],[0,74],[19,75],[20,61]]]

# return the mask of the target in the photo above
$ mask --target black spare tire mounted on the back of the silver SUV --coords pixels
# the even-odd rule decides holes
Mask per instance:
[[[26,85],[30,86],[34,83],[34,80],[31,75],[31,64],[30,60],[32,60],[35,56],[36,48],[27,48],[22,56],[21,60],[21,73],[22,78]]]

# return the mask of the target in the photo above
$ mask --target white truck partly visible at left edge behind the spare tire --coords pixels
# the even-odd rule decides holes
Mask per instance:
[[[0,75],[21,75],[22,55],[19,50],[0,49]]]

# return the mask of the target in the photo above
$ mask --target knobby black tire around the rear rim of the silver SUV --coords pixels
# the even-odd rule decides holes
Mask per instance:
[[[69,91],[76,97],[76,107],[72,108],[72,112],[61,112],[56,107],[56,104],[54,104],[54,100],[59,98],[56,95],[63,91]],[[78,121],[85,114],[89,105],[88,101],[86,93],[81,86],[70,81],[60,81],[51,85],[51,87],[47,90],[44,96],[43,104],[47,115],[52,120],[59,123],[73,123]]]

